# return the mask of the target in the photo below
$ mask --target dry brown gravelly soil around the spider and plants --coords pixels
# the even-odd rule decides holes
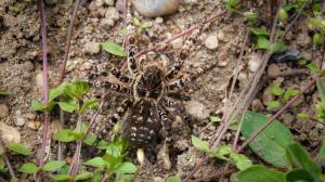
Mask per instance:
[[[50,0],[49,0],[50,1]],[[60,75],[64,55],[64,42],[67,35],[68,18],[72,14],[73,5],[70,0],[50,1],[46,5],[48,46],[50,61],[50,83],[55,86]],[[122,60],[114,56],[101,49],[99,43],[104,41],[122,42],[121,21],[122,14],[118,11],[118,3],[101,4],[101,1],[81,1],[80,9],[75,23],[75,32],[72,40],[70,58],[67,64],[66,80],[86,79],[93,65],[103,62],[112,62],[120,65]],[[15,12],[12,6],[18,6]],[[263,10],[264,5],[248,4],[251,10]],[[190,27],[193,23],[207,17],[213,11],[223,9],[223,0],[185,0],[178,13],[147,18],[139,15],[132,10],[133,15],[141,21],[150,22],[152,27],[144,30],[140,36],[139,49],[151,48],[158,42],[169,38]],[[247,9],[247,8],[246,8]],[[42,76],[41,76],[41,50],[39,35],[39,15],[35,2],[1,0],[0,2],[0,90],[10,93],[9,98],[0,101],[0,123],[10,127],[9,134],[16,141],[21,141],[36,152],[40,147],[42,115],[36,114],[30,108],[31,99],[41,99]],[[194,167],[203,154],[197,152],[191,145],[191,134],[196,134],[203,140],[211,139],[218,125],[209,123],[210,115],[219,115],[225,102],[225,89],[235,68],[240,67],[238,83],[235,94],[237,95],[253,75],[253,68],[249,68],[251,56],[260,56],[261,52],[251,49],[252,39],[249,38],[248,47],[242,61],[238,61],[239,52],[243,47],[245,34],[248,24],[239,15],[226,15],[210,25],[204,27],[198,34],[191,52],[185,58],[182,68],[183,73],[195,74],[198,70],[205,70],[196,80],[183,90],[183,94],[188,95],[191,101],[184,102],[187,112],[194,117],[193,130],[182,122],[176,121],[172,125],[176,141],[176,153],[171,154],[172,169],[166,171],[161,168],[159,160],[153,167],[141,169],[135,176],[134,181],[164,181],[171,174],[184,174]],[[304,20],[298,22],[288,34],[286,41],[291,49],[300,51],[307,57],[320,58],[321,51],[312,50],[312,40],[309,35],[310,29]],[[208,49],[207,39],[218,39],[218,47]],[[165,49],[147,54],[148,60],[154,62],[167,61],[173,63],[177,52],[182,47],[184,38],[173,41]],[[313,52],[313,55],[312,55]],[[256,63],[252,63],[256,64]],[[286,72],[295,69],[295,65],[281,63],[269,65],[266,75],[274,72]],[[275,74],[276,75],[276,74]],[[270,94],[268,86],[272,83],[281,84],[284,88],[302,88],[310,79],[310,76],[299,75],[290,78],[277,77],[263,86],[252,102],[252,109],[258,112],[273,113],[266,110],[265,103],[273,98]],[[116,103],[120,96],[113,94],[107,102],[105,114],[101,115],[99,120],[107,118],[116,108]],[[318,146],[320,138],[323,135],[324,126],[310,120],[300,120],[295,117],[298,113],[306,112],[314,114],[310,105],[316,102],[315,90],[311,90],[294,107],[290,107],[280,118],[286,126],[290,127],[298,141],[308,146],[310,151]],[[108,116],[107,116],[108,115]],[[52,114],[50,134],[57,131],[58,115]],[[202,130],[204,129],[204,130]],[[198,133],[198,131],[200,131]],[[3,132],[3,131],[2,131]],[[231,141],[233,132],[224,136],[224,141]],[[51,141],[48,159],[56,157],[55,141]],[[66,148],[65,155],[68,156],[73,148]],[[13,156],[14,169],[17,169],[21,161],[35,159],[35,156],[22,158]],[[199,170],[195,177],[208,174],[218,169],[216,161],[210,161]],[[20,176],[21,179],[27,179],[26,176]]]

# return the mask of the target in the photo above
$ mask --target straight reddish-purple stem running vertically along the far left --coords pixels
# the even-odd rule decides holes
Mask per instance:
[[[38,10],[40,17],[40,31],[41,31],[41,49],[42,49],[42,60],[43,60],[43,104],[49,103],[49,82],[48,82],[48,49],[47,49],[47,27],[46,27],[46,12],[44,4],[42,0],[38,0]],[[48,140],[49,132],[49,123],[50,123],[50,115],[49,112],[44,113],[44,123],[42,131],[42,143],[39,153],[39,166],[42,167],[44,165],[44,155],[46,155],[46,146]]]

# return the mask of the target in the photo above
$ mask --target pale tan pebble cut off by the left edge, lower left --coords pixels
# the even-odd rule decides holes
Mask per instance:
[[[0,138],[4,144],[21,143],[21,133],[14,127],[0,122]]]

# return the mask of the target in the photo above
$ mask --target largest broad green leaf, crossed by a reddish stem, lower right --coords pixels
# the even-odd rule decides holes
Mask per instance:
[[[242,126],[243,136],[249,139],[268,120],[263,114],[247,112]],[[249,147],[265,161],[283,168],[287,167],[286,147],[294,142],[290,130],[275,120],[249,143]]]

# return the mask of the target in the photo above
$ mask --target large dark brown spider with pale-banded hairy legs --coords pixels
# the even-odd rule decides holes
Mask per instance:
[[[130,13],[127,17],[127,20],[131,18]],[[143,57],[138,61],[133,43],[135,42],[134,27],[130,23],[128,24],[129,41],[132,42],[129,44],[127,60],[129,75],[122,74],[120,69],[113,66],[110,74],[122,84],[112,81],[92,81],[92,84],[128,96],[117,107],[109,123],[116,123],[128,113],[121,125],[121,134],[132,148],[151,150],[156,145],[157,139],[162,135],[165,139],[162,156],[166,157],[164,166],[166,169],[170,169],[168,148],[171,143],[172,119],[167,108],[177,108],[178,114],[182,115],[186,121],[191,119],[191,116],[186,114],[183,105],[169,94],[179,92],[191,79],[188,76],[177,78],[183,63],[181,60],[176,61],[167,69],[157,63],[145,65]],[[101,65],[98,66],[98,69],[102,73],[106,70]],[[161,130],[162,134],[160,134]],[[140,160],[139,155],[138,153]],[[143,161],[140,162],[143,164]]]

